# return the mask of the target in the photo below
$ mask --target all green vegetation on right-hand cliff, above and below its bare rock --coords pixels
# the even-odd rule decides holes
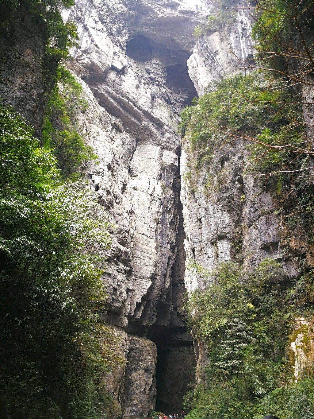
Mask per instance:
[[[250,11],[255,14],[254,60],[241,62],[243,75],[208,86],[182,113],[183,141],[193,156],[185,180],[196,191],[199,173],[207,171],[206,188],[214,189],[213,178],[221,175],[217,155],[242,150],[243,174],[253,175],[254,184],[272,194],[275,215],[283,220],[281,237],[290,240],[298,234],[296,241],[310,247],[313,125],[303,113],[311,114],[314,85],[313,3],[262,0]],[[211,17],[196,35],[216,29],[214,24]],[[289,246],[283,254],[293,258],[295,249]],[[298,258],[301,278],[288,284],[280,282],[281,264],[273,260],[251,272],[229,263],[207,272],[213,285],[189,295],[189,324],[206,342],[208,366],[203,383],[185,396],[188,417],[314,417],[313,370],[296,382],[294,355],[293,362],[289,359],[294,318],[314,315],[312,265]],[[206,282],[206,270],[197,270]]]

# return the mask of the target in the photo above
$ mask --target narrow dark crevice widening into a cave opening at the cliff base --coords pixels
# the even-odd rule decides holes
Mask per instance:
[[[178,213],[178,230],[177,256],[171,273],[172,311],[167,327],[158,326],[157,321],[147,336],[155,342],[157,348],[155,410],[167,415],[181,414],[183,411],[183,397],[188,391],[189,384],[195,382],[196,369],[193,339],[186,326],[186,315],[182,310],[186,253],[183,207],[180,200],[180,147],[177,154],[178,172],[175,179],[178,181],[173,183],[173,192]],[[165,307],[160,305],[159,310],[165,310]]]

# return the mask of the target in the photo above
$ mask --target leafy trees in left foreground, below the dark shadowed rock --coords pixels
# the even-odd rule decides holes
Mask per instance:
[[[62,182],[21,115],[1,105],[0,123],[1,416],[96,418],[112,359],[93,314],[106,213],[82,181]]]

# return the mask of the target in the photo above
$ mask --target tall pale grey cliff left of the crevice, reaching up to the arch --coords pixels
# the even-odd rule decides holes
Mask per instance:
[[[208,7],[196,3],[79,0],[64,13],[78,24],[80,47],[70,66],[88,101],[88,109],[77,114],[77,126],[99,157],[99,165],[86,167],[87,177],[114,226],[104,255],[110,301],[103,320],[115,333],[126,333],[120,352],[127,363],[122,374],[116,371],[106,381],[125,418],[146,417],[155,407],[155,375],[162,377],[163,366],[161,356],[155,372],[153,341],[165,328],[184,328],[177,124],[180,109],[197,96],[186,61],[195,44],[193,28]],[[153,341],[143,337],[147,334]],[[183,350],[176,334],[169,336],[161,353],[169,353],[169,367],[183,367],[167,397],[178,398],[181,409],[195,364],[193,341],[185,337]]]

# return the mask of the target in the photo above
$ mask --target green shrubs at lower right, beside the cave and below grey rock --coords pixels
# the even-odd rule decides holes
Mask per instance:
[[[252,418],[278,411],[280,417],[299,417],[291,416],[286,398],[271,407],[276,392],[286,396],[287,389],[300,388],[288,385],[293,376],[285,346],[296,307],[280,289],[281,265],[265,259],[244,275],[237,264],[225,263],[214,274],[206,292],[196,290],[185,303],[193,334],[206,341],[209,362],[206,388],[186,395],[189,418]]]

